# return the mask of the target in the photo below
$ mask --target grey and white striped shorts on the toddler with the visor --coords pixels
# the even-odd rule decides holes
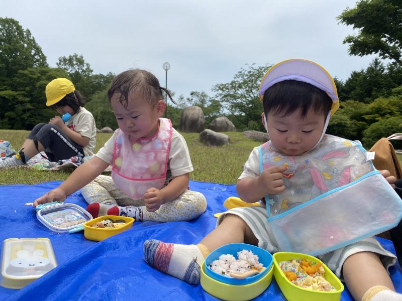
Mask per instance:
[[[223,221],[226,214],[234,214],[241,217],[250,227],[258,239],[258,246],[270,252],[280,252],[268,223],[268,213],[265,206],[237,207],[226,211],[217,221],[217,226]],[[320,258],[338,277],[342,278],[342,266],[346,258],[358,252],[373,252],[380,255],[384,267],[388,268],[396,263],[396,256],[385,250],[374,238],[368,237],[346,247],[317,256]]]

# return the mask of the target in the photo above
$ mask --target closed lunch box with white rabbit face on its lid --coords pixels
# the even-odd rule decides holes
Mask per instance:
[[[9,238],[3,243],[2,282],[22,288],[57,266],[48,238]]]

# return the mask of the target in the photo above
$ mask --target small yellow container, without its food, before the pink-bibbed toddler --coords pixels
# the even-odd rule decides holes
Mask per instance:
[[[100,221],[108,219],[108,218],[110,218],[114,221],[124,220],[124,221],[126,221],[126,224],[122,227],[113,228],[113,229],[91,227],[91,225],[96,224],[97,222],[100,222]],[[117,216],[117,215],[99,216],[97,218],[94,218],[93,220],[90,220],[90,221],[87,221],[86,223],[84,223],[84,236],[86,239],[101,241],[101,240],[104,240],[105,238],[111,237],[113,235],[116,235],[120,232],[123,232],[123,231],[131,228],[133,226],[134,221],[135,221],[135,218],[126,217],[126,216]]]

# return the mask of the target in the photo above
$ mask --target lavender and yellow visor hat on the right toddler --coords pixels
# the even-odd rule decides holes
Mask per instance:
[[[290,59],[277,63],[265,73],[258,96],[261,101],[265,91],[284,80],[298,80],[323,90],[332,99],[331,115],[339,108],[338,92],[332,76],[319,64],[305,59]]]

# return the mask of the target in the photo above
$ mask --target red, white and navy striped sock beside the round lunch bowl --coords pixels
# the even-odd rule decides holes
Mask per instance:
[[[155,239],[144,242],[144,258],[148,264],[190,284],[199,283],[200,266],[209,253],[203,244],[182,245]]]

